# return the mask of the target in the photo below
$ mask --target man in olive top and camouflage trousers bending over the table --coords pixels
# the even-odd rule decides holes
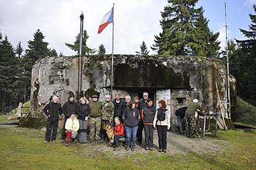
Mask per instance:
[[[186,113],[185,113],[185,132],[187,137],[191,137],[191,138],[197,137],[195,112],[198,111],[199,108],[200,108],[200,105],[198,104],[197,99],[194,99],[193,102],[191,102],[188,105],[188,109],[186,110]]]

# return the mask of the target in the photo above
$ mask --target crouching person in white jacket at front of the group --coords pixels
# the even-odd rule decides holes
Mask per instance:
[[[79,121],[76,118],[76,114],[71,114],[70,118],[67,119],[65,129],[67,135],[65,146],[68,146],[70,137],[73,143],[77,136],[77,130],[79,130]]]

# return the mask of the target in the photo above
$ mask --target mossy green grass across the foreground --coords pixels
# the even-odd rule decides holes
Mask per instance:
[[[127,154],[94,150],[97,144],[65,147],[60,141],[44,144],[44,132],[0,127],[0,169],[256,169],[256,132],[219,131],[228,141],[222,155],[168,155],[157,151]],[[60,134],[58,134],[60,139]]]

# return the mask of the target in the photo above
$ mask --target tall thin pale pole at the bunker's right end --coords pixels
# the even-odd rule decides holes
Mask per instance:
[[[227,118],[231,117],[230,112],[230,84],[229,84],[229,62],[228,62],[228,34],[227,34],[227,10],[226,10],[226,3],[225,3],[225,31],[226,31],[226,52],[227,52],[227,84],[228,84],[228,115],[226,114]]]

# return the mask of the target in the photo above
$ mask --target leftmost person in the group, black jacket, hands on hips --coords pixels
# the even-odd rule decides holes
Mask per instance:
[[[56,142],[58,121],[62,113],[61,104],[58,104],[58,100],[59,100],[58,97],[54,96],[52,97],[52,102],[45,105],[44,107],[44,113],[48,117],[44,143],[49,143],[51,139],[51,133],[52,133],[51,141],[53,143]]]

